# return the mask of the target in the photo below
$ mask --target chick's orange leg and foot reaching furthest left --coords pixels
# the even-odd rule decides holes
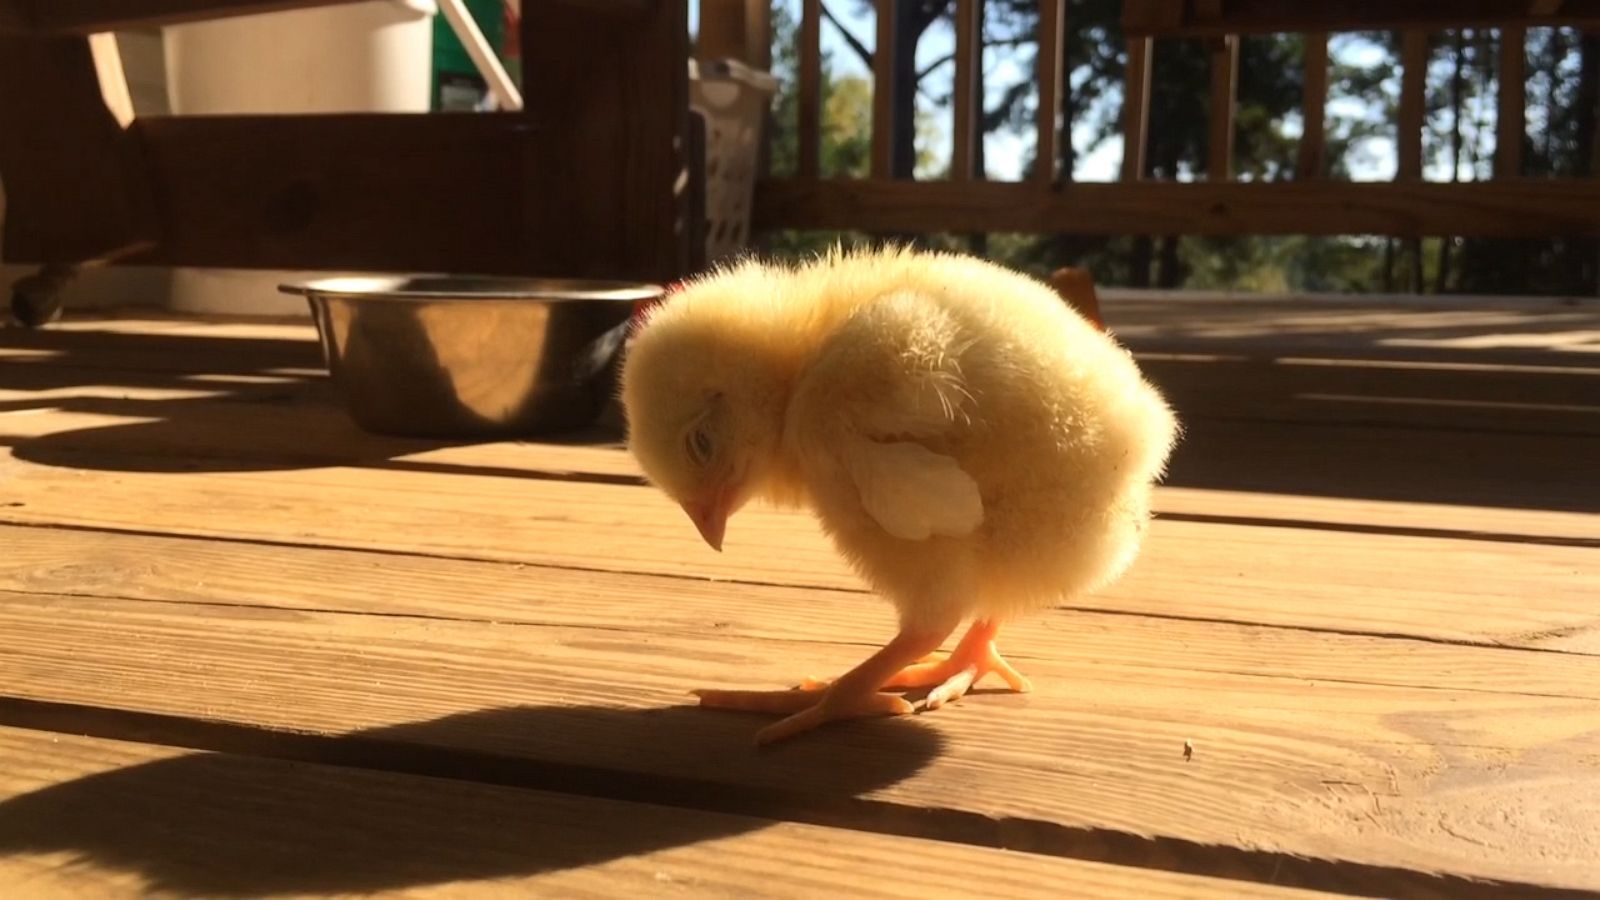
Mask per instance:
[[[866,716],[904,716],[914,708],[894,693],[878,693],[896,673],[925,660],[949,637],[942,631],[901,631],[882,650],[821,690],[696,690],[701,706],[752,713],[789,713],[762,729],[755,743],[773,743],[808,732],[824,722]]]

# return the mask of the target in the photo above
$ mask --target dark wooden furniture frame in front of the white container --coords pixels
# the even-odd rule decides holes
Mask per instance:
[[[350,2],[0,0],[6,261],[690,269],[685,0],[528,3],[526,107],[496,115],[134,117],[96,37]]]

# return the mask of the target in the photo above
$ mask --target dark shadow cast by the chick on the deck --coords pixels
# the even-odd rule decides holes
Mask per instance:
[[[221,746],[266,741],[261,756],[192,753],[0,802],[0,858],[64,850],[189,897],[533,876],[850,815],[941,749],[880,719],[758,753],[752,724],[518,706],[341,737],[237,729]]]

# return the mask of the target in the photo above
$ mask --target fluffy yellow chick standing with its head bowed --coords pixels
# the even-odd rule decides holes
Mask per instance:
[[[696,692],[786,714],[758,743],[914,711],[886,689],[931,687],[926,709],[989,673],[1029,690],[1000,625],[1128,569],[1179,432],[1131,354],[1048,285],[902,248],[686,282],[637,331],[621,399],[646,477],[712,548],[750,500],[806,506],[899,612],[832,682]]]

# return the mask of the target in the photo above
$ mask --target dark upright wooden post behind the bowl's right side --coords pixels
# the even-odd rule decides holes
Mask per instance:
[[[526,141],[517,178],[485,191],[520,205],[525,271],[662,283],[688,272],[686,58],[682,2],[630,16],[555,3],[522,18],[523,122],[549,131]]]

